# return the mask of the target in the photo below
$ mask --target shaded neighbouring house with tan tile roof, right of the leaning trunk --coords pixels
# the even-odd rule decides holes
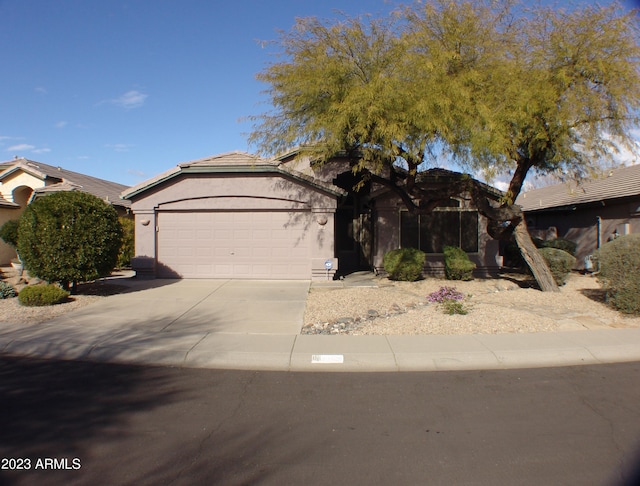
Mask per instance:
[[[543,239],[577,243],[576,268],[585,257],[618,235],[640,233],[640,165],[607,171],[602,177],[524,192],[517,204],[529,232]]]

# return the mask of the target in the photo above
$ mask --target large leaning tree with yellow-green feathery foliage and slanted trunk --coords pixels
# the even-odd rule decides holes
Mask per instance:
[[[273,110],[255,118],[251,141],[320,162],[344,154],[360,183],[388,187],[414,213],[471,194],[492,236],[515,232],[541,288],[557,290],[514,202],[531,171],[580,178],[631,140],[637,38],[617,5],[439,0],[383,19],[299,19],[258,75]],[[442,151],[471,172],[510,174],[504,199],[483,199],[471,178],[418,184]]]

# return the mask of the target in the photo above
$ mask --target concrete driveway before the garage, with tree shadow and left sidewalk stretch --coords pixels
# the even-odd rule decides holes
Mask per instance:
[[[65,359],[288,363],[309,292],[302,280],[115,279],[130,291],[43,324],[5,326],[4,352]],[[263,359],[263,358],[260,358]],[[260,363],[255,363],[259,365]]]

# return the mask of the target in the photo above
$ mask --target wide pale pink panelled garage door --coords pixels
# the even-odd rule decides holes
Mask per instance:
[[[158,275],[309,279],[309,212],[160,212]]]

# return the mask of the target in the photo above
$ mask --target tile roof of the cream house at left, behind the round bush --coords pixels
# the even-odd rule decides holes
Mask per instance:
[[[120,199],[120,193],[127,188],[124,184],[24,158],[0,163],[0,181],[16,171],[24,171],[47,182],[45,187],[35,190],[36,195],[58,191],[82,191],[104,199],[114,206],[131,206],[129,201]]]

